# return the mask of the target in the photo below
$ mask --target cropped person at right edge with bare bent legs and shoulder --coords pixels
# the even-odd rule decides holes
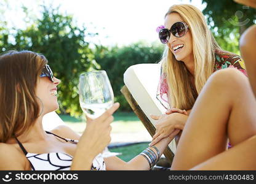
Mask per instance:
[[[256,0],[236,2],[256,8]],[[256,26],[250,26],[239,41],[249,80],[234,69],[210,76],[186,122],[172,169],[256,169],[255,33]],[[233,145],[228,150],[227,138]]]

